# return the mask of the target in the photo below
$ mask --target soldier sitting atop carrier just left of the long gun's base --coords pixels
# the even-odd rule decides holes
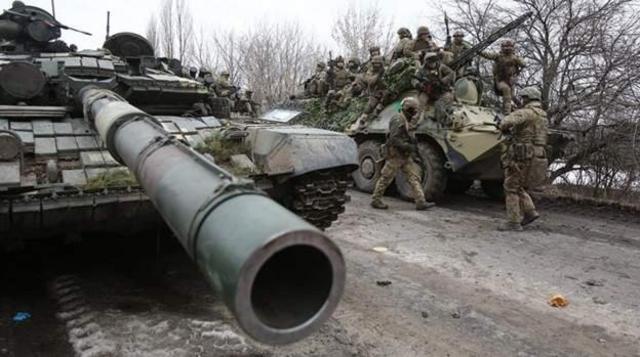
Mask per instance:
[[[451,92],[456,73],[441,62],[440,56],[439,53],[427,53],[424,65],[416,71],[414,86],[420,91],[418,98],[422,110],[437,101],[443,102],[442,105],[453,101]]]

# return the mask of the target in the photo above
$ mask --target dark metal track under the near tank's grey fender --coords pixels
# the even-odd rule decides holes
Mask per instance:
[[[342,169],[307,174],[295,180],[293,197],[285,206],[319,229],[327,229],[345,210],[349,183],[350,173]]]

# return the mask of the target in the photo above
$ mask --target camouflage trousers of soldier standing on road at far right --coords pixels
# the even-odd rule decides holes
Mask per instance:
[[[527,193],[528,177],[531,165],[529,162],[509,162],[504,171],[505,204],[509,222],[522,221],[523,215],[536,210],[531,196]]]

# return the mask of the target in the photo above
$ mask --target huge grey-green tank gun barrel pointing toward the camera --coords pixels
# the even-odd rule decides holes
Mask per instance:
[[[80,91],[85,118],[126,165],[252,338],[295,342],[332,314],[345,266],[321,231],[170,137],[117,94]]]

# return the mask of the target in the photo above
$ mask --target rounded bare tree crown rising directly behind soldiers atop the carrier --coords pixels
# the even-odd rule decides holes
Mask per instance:
[[[352,2],[333,24],[331,36],[345,54],[364,59],[374,45],[380,46],[382,53],[389,52],[394,38],[392,26],[393,21],[385,18],[377,2],[367,7]]]

